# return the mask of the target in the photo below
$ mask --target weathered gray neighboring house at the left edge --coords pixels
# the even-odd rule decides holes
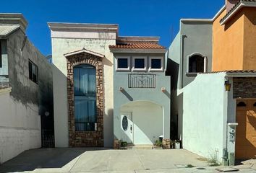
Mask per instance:
[[[22,14],[0,14],[0,164],[40,148],[41,133],[53,122],[51,66],[26,27]]]

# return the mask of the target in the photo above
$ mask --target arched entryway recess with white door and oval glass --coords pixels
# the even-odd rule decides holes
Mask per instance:
[[[163,136],[163,107],[154,102],[135,101],[121,106],[121,139],[135,145],[153,144]]]

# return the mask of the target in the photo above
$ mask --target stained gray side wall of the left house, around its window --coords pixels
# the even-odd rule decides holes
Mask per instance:
[[[6,98],[3,103],[6,110],[1,114],[0,121],[3,134],[0,136],[0,162],[7,161],[24,150],[39,148],[39,115],[45,116],[49,112],[49,117],[53,117],[51,65],[22,30],[17,30],[7,38],[7,56],[12,92],[0,95],[0,99]],[[38,84],[29,79],[29,60],[38,66]]]

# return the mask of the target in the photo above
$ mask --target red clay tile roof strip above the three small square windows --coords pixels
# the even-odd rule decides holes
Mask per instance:
[[[127,49],[165,49],[165,47],[156,43],[119,43],[109,45],[109,48],[127,48]]]

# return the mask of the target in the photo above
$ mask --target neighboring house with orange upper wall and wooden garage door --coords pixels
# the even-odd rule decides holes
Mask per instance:
[[[224,164],[256,154],[255,6],[227,0],[213,19],[181,19],[168,49],[176,136]]]

